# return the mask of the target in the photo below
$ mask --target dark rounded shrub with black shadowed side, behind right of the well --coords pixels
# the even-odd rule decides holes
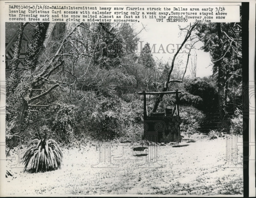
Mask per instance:
[[[200,110],[215,112],[218,109],[218,93],[216,88],[201,78],[194,78],[184,84],[184,88],[190,94],[202,98]]]

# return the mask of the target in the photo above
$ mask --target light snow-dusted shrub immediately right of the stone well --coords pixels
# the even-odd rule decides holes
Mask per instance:
[[[194,134],[200,132],[205,121],[205,114],[195,107],[180,106],[181,133]]]

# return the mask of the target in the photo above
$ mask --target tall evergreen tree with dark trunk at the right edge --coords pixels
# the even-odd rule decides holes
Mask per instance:
[[[196,29],[197,36],[204,42],[202,49],[210,53],[213,72],[217,75],[220,119],[229,120],[226,109],[229,84],[242,80],[241,23],[199,24]]]

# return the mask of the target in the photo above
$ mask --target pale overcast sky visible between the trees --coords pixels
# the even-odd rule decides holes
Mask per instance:
[[[179,27],[178,25],[183,25],[183,23],[162,23],[162,22],[155,22],[155,23],[148,23],[143,25],[141,23],[135,24],[135,27],[137,31],[143,29],[143,26],[145,27],[145,30],[143,30],[139,34],[140,41],[143,41],[143,46],[146,42],[150,43],[150,46],[152,47],[153,44],[155,45],[156,52],[158,52],[159,48],[161,47],[161,44],[163,45],[163,48],[165,50],[165,53],[160,50],[160,53],[153,53],[153,57],[155,59],[163,59],[165,61],[172,61],[172,58],[177,51],[177,44],[181,44],[185,38],[184,34],[179,37]],[[186,23],[184,23],[183,27],[186,26]],[[168,44],[174,44],[175,50],[173,53],[168,53],[166,51],[166,47]],[[140,45],[140,43],[139,43]],[[200,48],[202,46],[202,42],[196,43],[196,48]],[[139,47],[140,49],[140,47]],[[169,52],[172,52],[173,45],[169,45],[168,47]],[[185,49],[185,51],[188,51]],[[196,52],[197,54],[197,77],[204,77],[212,75],[212,66],[211,66],[211,60],[209,53],[206,53],[202,50],[195,50],[194,52],[191,51],[191,54],[194,54]],[[182,54],[180,54],[182,55]],[[187,59],[187,54],[183,55],[184,63]],[[210,66],[209,66],[210,65]],[[185,67],[185,65],[184,65]],[[191,75],[189,69],[187,69],[186,76]]]

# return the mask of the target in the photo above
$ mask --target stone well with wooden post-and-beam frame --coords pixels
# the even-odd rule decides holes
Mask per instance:
[[[145,138],[152,142],[180,142],[180,117],[179,117],[179,94],[181,91],[166,91],[166,92],[139,92],[139,95],[144,97],[143,118],[144,118],[144,135]],[[153,113],[148,115],[146,95],[159,94],[175,94],[176,102],[174,107],[167,109],[162,113]],[[175,113],[176,112],[176,113]]]

